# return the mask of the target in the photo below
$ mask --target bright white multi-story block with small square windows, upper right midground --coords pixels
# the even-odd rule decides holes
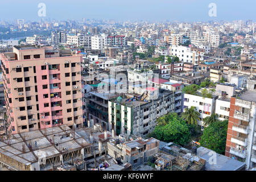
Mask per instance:
[[[171,46],[170,55],[177,56],[180,61],[193,65],[198,65],[200,61],[204,60],[204,52],[191,51],[190,47],[185,46]]]

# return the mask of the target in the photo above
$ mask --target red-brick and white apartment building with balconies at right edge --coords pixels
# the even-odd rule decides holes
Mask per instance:
[[[256,167],[256,78],[247,80],[247,90],[230,99],[225,155]]]

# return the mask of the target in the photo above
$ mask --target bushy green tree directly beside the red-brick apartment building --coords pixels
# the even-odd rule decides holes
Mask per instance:
[[[216,151],[218,154],[225,154],[227,131],[228,120],[210,123],[210,125],[204,129],[199,143],[201,146]]]

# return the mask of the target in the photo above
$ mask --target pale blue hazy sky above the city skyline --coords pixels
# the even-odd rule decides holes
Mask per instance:
[[[0,19],[39,20],[39,3],[46,4],[46,19],[256,21],[255,0],[0,0]],[[208,15],[209,3],[216,3],[217,17]]]

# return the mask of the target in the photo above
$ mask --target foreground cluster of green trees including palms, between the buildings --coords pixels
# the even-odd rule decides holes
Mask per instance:
[[[191,142],[191,136],[201,134],[200,126],[197,125],[199,116],[200,114],[193,106],[186,108],[181,117],[176,113],[164,115],[157,120],[158,125],[148,137],[184,146]],[[219,121],[218,114],[212,113],[209,117],[204,118],[203,121],[205,129],[199,143],[201,146],[216,151],[218,154],[224,154],[228,120]]]

